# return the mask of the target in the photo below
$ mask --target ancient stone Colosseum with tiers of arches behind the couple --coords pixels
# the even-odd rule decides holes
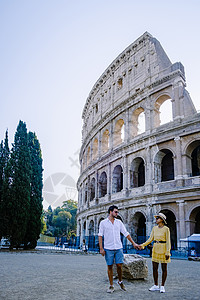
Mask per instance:
[[[180,50],[181,51],[181,50]],[[184,66],[145,32],[94,84],[83,109],[77,237],[89,248],[115,204],[136,242],[163,212],[172,249],[200,233],[200,113]]]

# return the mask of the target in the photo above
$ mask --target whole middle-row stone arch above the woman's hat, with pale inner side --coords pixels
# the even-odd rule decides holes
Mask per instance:
[[[161,181],[174,180],[174,155],[169,149],[160,150],[154,158],[154,180],[155,183]]]

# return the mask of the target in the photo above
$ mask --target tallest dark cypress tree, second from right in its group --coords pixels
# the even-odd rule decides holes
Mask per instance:
[[[19,121],[11,151],[11,197],[9,199],[10,248],[24,244],[30,212],[31,161],[26,123]]]

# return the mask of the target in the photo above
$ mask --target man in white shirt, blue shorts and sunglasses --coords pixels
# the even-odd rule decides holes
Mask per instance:
[[[108,266],[108,278],[110,282],[110,286],[107,290],[107,293],[114,292],[113,286],[113,263],[115,260],[117,266],[117,274],[118,274],[118,285],[121,290],[126,291],[126,288],[122,282],[122,264],[123,264],[123,246],[120,238],[120,233],[122,233],[134,246],[134,248],[138,247],[130,234],[127,232],[124,224],[117,219],[118,215],[118,207],[112,205],[108,209],[108,218],[101,221],[99,227],[99,247],[100,253],[102,256],[105,255],[106,263]],[[104,248],[102,243],[102,237],[104,237]]]

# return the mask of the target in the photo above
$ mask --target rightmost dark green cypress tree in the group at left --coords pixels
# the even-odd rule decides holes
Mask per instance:
[[[37,240],[41,233],[42,218],[42,154],[40,143],[35,133],[28,133],[28,148],[31,159],[30,174],[30,208],[29,221],[25,236],[25,248],[33,249],[37,245]]]

